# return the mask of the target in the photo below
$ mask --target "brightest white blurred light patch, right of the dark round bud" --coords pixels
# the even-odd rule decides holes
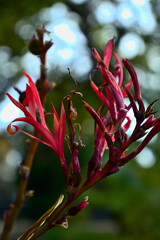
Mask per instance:
[[[75,34],[70,30],[69,26],[65,23],[55,26],[54,32],[59,38],[66,42],[73,44],[76,41]]]

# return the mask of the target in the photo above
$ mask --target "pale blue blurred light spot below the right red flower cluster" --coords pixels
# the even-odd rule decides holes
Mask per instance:
[[[143,168],[151,168],[156,163],[152,150],[145,147],[143,151],[136,157],[136,162]]]

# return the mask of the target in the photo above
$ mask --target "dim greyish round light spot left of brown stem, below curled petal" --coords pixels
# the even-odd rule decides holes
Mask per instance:
[[[6,155],[6,163],[11,167],[18,167],[21,159],[20,153],[15,149],[10,150]]]

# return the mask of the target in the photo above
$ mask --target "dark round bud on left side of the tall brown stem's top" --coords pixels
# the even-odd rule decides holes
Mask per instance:
[[[37,56],[41,54],[41,43],[35,35],[33,35],[31,40],[28,42],[28,49],[33,55]]]

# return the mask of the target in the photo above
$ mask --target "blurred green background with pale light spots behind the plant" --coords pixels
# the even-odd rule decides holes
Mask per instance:
[[[45,24],[54,45],[47,54],[48,78],[56,82],[49,94],[59,109],[60,102],[75,89],[67,68],[71,69],[83,99],[93,107],[99,100],[89,83],[89,72],[95,66],[91,48],[100,55],[106,42],[116,36],[114,51],[134,64],[146,106],[160,96],[160,1],[158,0],[14,0],[0,1],[0,228],[3,211],[13,202],[19,182],[18,166],[25,159],[27,142],[21,133],[8,136],[6,126],[20,112],[5,97],[18,94],[13,85],[24,90],[25,70],[34,81],[39,78],[38,57],[28,52],[27,42],[37,25]],[[125,75],[127,81],[128,75]],[[97,84],[102,82],[97,73]],[[156,104],[156,109],[159,108]],[[66,103],[65,103],[66,106]],[[77,122],[82,125],[86,145],[80,150],[83,179],[93,150],[94,123],[85,112],[79,96],[74,99]],[[157,113],[158,116],[158,113]],[[132,123],[134,126],[134,120]],[[52,121],[48,117],[48,125]],[[21,125],[32,131],[26,125]],[[84,196],[89,206],[69,220],[69,229],[55,228],[40,239],[158,240],[160,239],[160,136],[121,171],[97,184]],[[133,145],[133,148],[136,144]],[[69,151],[65,143],[66,158]],[[107,154],[104,162],[107,161]],[[35,195],[25,204],[11,239],[16,239],[34,220],[40,217],[61,193],[65,193],[63,174],[57,156],[47,146],[39,144],[28,189]]]

